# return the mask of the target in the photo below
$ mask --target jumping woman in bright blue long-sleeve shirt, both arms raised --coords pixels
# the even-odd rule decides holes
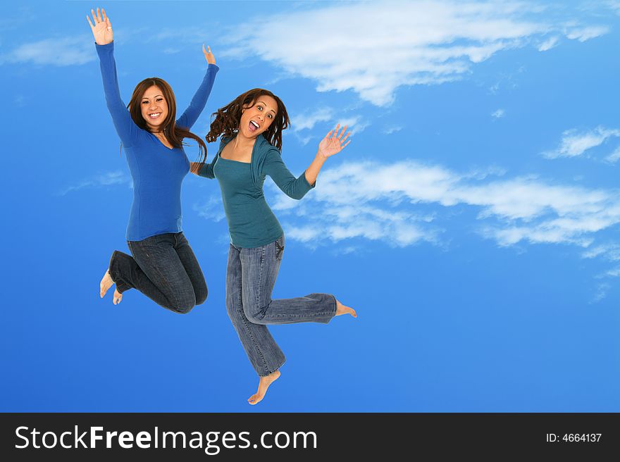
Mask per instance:
[[[181,184],[190,170],[183,139],[192,138],[206,156],[204,141],[190,132],[209,98],[219,68],[211,49],[209,63],[190,106],[176,117],[174,93],[164,80],[142,80],[125,107],[120,99],[114,62],[112,25],[102,9],[87,16],[101,62],[106,103],[123,143],[133,179],[133,203],[127,227],[132,256],[114,251],[100,284],[103,297],[116,284],[116,305],[128,289],[138,289],[175,313],[187,313],[206,300],[204,275],[181,230]]]

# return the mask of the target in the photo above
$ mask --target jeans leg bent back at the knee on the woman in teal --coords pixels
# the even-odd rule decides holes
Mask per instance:
[[[284,253],[284,236],[256,249],[241,249],[242,300],[254,324],[329,323],[337,301],[331,294],[309,294],[294,299],[271,299]]]

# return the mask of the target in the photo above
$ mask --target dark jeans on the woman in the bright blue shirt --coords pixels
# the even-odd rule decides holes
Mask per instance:
[[[118,292],[137,289],[175,313],[204,303],[208,291],[196,256],[182,232],[128,241],[133,255],[115,250],[110,276]]]

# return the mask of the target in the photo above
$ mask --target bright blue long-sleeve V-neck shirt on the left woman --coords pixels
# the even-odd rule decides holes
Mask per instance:
[[[182,147],[169,149],[151,132],[135,125],[120,98],[113,51],[113,42],[97,45],[106,104],[123,142],[133,180],[127,240],[141,241],[166,232],[180,232],[181,184],[190,171],[190,161]],[[177,125],[187,130],[194,125],[206,105],[218,70],[218,66],[209,64],[190,106],[176,120]]]

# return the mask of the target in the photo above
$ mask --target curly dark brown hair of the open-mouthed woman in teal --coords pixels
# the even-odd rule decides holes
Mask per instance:
[[[211,114],[211,117],[213,118],[213,116],[215,116],[215,119],[211,122],[209,133],[206,134],[206,141],[212,143],[221,135],[232,137],[233,133],[239,130],[242,110],[254,106],[256,99],[262,95],[271,96],[278,104],[278,113],[275,114],[273,122],[262,135],[267,139],[269,144],[278,149],[282,149],[282,130],[288,128],[290,120],[284,103],[280,98],[269,90],[262,88],[254,88],[244,94],[240,94],[226,106],[219,108],[217,112]]]

